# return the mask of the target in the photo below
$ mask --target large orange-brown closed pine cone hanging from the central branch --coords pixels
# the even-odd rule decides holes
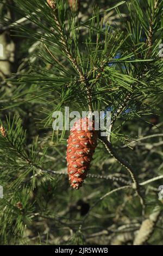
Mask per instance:
[[[78,190],[86,178],[92,155],[97,146],[95,121],[87,117],[76,121],[67,143],[68,176],[71,187]]]

